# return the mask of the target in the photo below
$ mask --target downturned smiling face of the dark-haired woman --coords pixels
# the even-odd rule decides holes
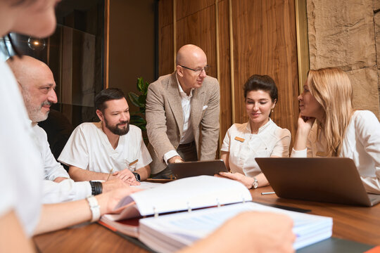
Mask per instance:
[[[248,91],[246,96],[246,112],[251,126],[260,128],[269,120],[270,110],[274,108],[276,101],[272,102],[268,91]]]

